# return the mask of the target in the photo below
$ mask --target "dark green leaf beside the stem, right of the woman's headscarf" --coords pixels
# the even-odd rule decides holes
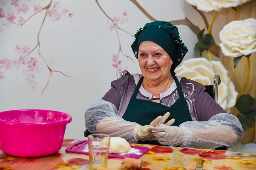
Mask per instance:
[[[204,50],[208,50],[213,45],[213,36],[210,34],[203,34],[205,29],[201,30],[198,35],[197,39],[198,42],[195,45],[195,52],[203,52]]]

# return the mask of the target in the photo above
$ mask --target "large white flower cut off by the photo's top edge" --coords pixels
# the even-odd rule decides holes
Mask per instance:
[[[198,10],[209,12],[212,10],[220,11],[222,8],[236,7],[244,2],[251,0],[186,0]]]

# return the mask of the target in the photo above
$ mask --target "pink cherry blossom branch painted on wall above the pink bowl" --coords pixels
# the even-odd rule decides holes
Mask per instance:
[[[19,27],[22,27],[28,20],[31,20],[33,16],[38,13],[44,12],[45,15],[41,21],[41,26],[38,30],[38,34],[35,35],[37,37],[37,44],[34,47],[28,47],[26,44],[16,44],[14,47],[16,51],[16,59],[13,61],[8,57],[4,57],[0,59],[0,80],[3,81],[5,78],[4,72],[12,69],[13,67],[20,68],[23,72],[23,77],[26,80],[27,84],[31,85],[31,88],[35,88],[38,84],[37,76],[40,74],[40,70],[42,69],[38,64],[38,58],[31,55],[34,50],[38,50],[38,54],[43,61],[45,61],[44,57],[40,54],[40,32],[45,23],[46,17],[50,19],[51,22],[58,22],[62,19],[62,17],[66,17],[70,20],[70,24],[72,24],[72,17],[74,15],[73,12],[69,12],[66,7],[62,7],[59,1],[46,1],[47,5],[42,5],[41,3],[36,3],[37,1],[22,1],[22,0],[3,0],[0,5],[0,22],[8,27],[9,24],[16,24]],[[41,1],[44,3],[44,1]],[[4,28],[5,29],[5,28]],[[0,30],[1,31],[1,30]],[[42,90],[42,93],[45,91],[49,79],[52,76],[52,73],[60,73],[63,76],[71,77],[66,75],[60,70],[53,70],[46,63],[46,66],[50,72],[48,82],[46,83],[45,88]]]

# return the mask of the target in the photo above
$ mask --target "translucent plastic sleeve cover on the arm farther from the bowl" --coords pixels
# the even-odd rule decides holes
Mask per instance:
[[[214,149],[221,146],[234,147],[243,137],[243,129],[236,116],[219,113],[209,121],[187,121],[180,125],[185,130],[181,147]]]

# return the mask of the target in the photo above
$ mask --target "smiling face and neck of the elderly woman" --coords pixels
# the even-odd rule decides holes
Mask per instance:
[[[173,61],[167,52],[153,41],[141,42],[138,56],[141,76],[144,77],[142,86],[152,93],[152,98],[160,98],[160,93],[167,91],[174,81],[170,73]]]

